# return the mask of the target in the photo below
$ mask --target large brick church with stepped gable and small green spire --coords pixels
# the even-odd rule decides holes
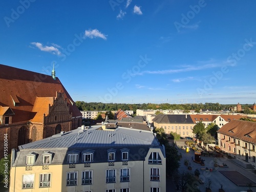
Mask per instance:
[[[0,158],[18,145],[81,126],[82,115],[55,76],[0,65]],[[6,146],[6,145],[5,145]]]

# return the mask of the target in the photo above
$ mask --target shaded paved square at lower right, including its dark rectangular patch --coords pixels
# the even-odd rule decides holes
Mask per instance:
[[[178,153],[182,155],[179,168],[180,173],[191,172],[192,174],[194,174],[195,169],[199,169],[199,179],[202,181],[202,184],[199,184],[199,189],[201,191],[205,191],[209,180],[211,181],[211,191],[219,191],[221,185],[226,192],[247,191],[247,189],[249,189],[249,187],[246,186],[248,184],[247,182],[251,182],[253,185],[256,184],[256,175],[254,174],[253,170],[243,169],[242,167],[229,161],[225,156],[201,157],[204,160],[204,166],[202,166],[200,163],[196,163],[194,161],[195,152],[194,150],[191,150],[191,148],[189,149],[188,153],[186,153],[185,150],[179,148]],[[188,164],[192,168],[191,170],[189,170],[188,166],[184,164],[184,160],[188,160]],[[218,165],[226,164],[227,166],[215,167],[215,163],[217,163]],[[213,171],[209,171],[209,169],[212,169]],[[235,183],[237,183],[238,185]],[[239,183],[241,183],[241,185]],[[251,189],[255,191],[256,187],[253,186],[251,187]]]

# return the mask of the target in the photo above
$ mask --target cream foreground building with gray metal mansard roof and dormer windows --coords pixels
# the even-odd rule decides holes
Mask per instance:
[[[164,146],[151,131],[77,129],[12,151],[10,191],[166,191]]]

